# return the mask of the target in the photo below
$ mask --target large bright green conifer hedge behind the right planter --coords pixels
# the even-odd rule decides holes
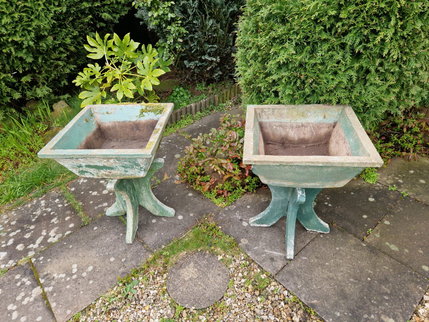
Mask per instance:
[[[236,45],[245,103],[349,104],[366,128],[429,103],[426,0],[249,0]]]

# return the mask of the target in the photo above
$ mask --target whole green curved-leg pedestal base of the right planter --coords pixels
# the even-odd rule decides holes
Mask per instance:
[[[251,226],[269,227],[281,217],[286,218],[286,257],[293,259],[295,246],[295,222],[299,220],[309,231],[329,233],[329,226],[323,222],[313,210],[314,198],[320,188],[291,188],[268,185],[272,199],[269,206],[257,216],[249,219]]]

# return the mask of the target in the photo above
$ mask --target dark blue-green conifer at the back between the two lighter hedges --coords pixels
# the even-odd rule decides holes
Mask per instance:
[[[179,60],[193,78],[224,79],[233,75],[234,24],[244,4],[245,0],[178,0],[169,6],[175,15],[175,20],[171,18],[174,27],[180,21],[180,27],[186,30],[174,39],[174,44],[180,48]],[[145,20],[161,40],[168,40],[171,28],[163,27],[163,21],[150,24],[148,9],[141,7],[137,17]]]

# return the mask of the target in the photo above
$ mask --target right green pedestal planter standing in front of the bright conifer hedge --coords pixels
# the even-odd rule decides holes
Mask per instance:
[[[313,210],[321,188],[341,187],[383,160],[350,106],[249,105],[243,163],[267,185],[272,201],[249,220],[271,226],[287,216],[287,258],[293,258],[296,219],[310,231],[329,226]]]

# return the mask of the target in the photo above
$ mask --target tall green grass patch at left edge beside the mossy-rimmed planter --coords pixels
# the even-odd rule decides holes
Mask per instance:
[[[43,135],[51,128],[64,127],[80,111],[81,100],[71,97],[71,107],[57,119],[49,105],[39,102],[33,113],[9,116],[3,120],[0,134],[0,204],[29,194],[34,189],[47,187],[59,179],[74,175],[56,161],[39,160],[37,152],[44,146]],[[6,122],[4,122],[6,121]]]

